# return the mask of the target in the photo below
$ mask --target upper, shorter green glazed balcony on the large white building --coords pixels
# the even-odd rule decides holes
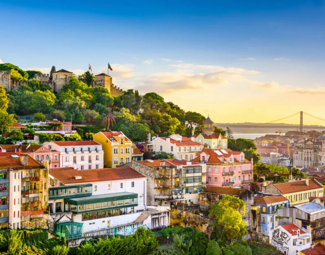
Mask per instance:
[[[80,184],[73,186],[50,187],[48,189],[48,200],[60,198],[73,198],[91,196],[92,184]]]

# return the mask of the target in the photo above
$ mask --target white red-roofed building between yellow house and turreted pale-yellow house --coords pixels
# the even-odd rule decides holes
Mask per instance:
[[[196,157],[195,154],[202,150],[203,146],[187,137],[173,134],[168,137],[157,137],[147,147],[150,151],[164,151],[172,153],[175,158],[192,160]]]

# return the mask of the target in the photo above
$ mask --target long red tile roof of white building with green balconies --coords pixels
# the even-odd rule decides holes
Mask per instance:
[[[146,178],[143,174],[140,174],[131,167],[88,170],[76,170],[71,167],[50,168],[48,172],[64,184]],[[74,176],[81,176],[82,179],[75,179]]]

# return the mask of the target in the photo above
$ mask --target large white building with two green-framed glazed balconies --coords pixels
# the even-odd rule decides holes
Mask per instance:
[[[50,225],[78,222],[85,233],[133,222],[146,209],[147,178],[130,167],[50,168],[48,192]]]

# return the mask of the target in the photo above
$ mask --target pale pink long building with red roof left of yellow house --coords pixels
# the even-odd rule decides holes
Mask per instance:
[[[48,150],[58,152],[59,166],[57,167],[72,167],[79,170],[104,167],[102,145],[95,141],[53,141],[43,145]]]

